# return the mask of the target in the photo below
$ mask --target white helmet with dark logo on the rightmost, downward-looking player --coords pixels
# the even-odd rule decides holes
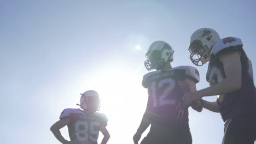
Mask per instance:
[[[190,60],[197,66],[210,61],[212,47],[219,39],[219,34],[211,28],[197,29],[190,37]]]

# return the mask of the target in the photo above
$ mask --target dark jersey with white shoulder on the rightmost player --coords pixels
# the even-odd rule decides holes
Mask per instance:
[[[210,85],[216,85],[225,79],[226,75],[219,55],[220,53],[232,51],[237,51],[241,54],[242,83],[241,88],[237,91],[217,96],[217,103],[220,106],[220,114],[224,122],[228,118],[256,112],[256,89],[253,82],[252,63],[243,50],[240,39],[229,37],[220,39],[214,44],[210,55],[206,80]]]

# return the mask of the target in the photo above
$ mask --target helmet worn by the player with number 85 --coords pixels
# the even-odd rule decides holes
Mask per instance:
[[[100,97],[98,93],[94,90],[89,90],[84,92],[83,94],[81,93],[81,98],[80,98],[80,107],[82,109],[87,109],[88,105],[94,105],[94,107],[97,108],[97,110],[100,109]]]

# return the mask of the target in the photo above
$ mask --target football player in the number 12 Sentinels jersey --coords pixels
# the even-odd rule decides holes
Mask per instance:
[[[147,70],[156,71],[143,76],[142,86],[148,89],[148,103],[133,136],[135,144],[149,125],[150,131],[141,144],[192,143],[188,107],[183,107],[181,100],[184,92],[196,91],[199,72],[189,66],[172,68],[173,52],[165,41],[155,41],[146,53],[144,65]],[[202,107],[194,106],[194,109],[201,111]]]

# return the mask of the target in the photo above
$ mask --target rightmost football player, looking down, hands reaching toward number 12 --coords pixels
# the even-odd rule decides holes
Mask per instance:
[[[200,28],[190,38],[190,59],[195,65],[207,62],[206,80],[210,87],[183,96],[184,105],[205,96],[218,95],[217,101],[202,106],[220,112],[224,124],[223,144],[248,143],[256,139],[256,89],[250,59],[241,39],[220,39],[211,28]]]

